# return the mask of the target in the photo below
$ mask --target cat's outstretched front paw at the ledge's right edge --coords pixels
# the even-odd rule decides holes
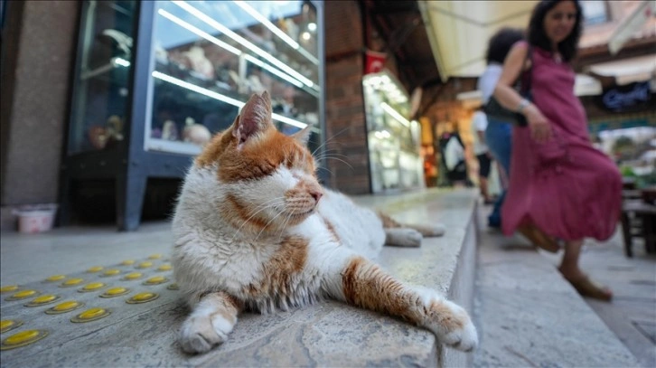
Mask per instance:
[[[471,352],[478,345],[478,333],[463,307],[441,297],[427,303],[426,328],[448,346]]]

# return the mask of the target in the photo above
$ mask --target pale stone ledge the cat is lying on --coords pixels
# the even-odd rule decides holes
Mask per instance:
[[[473,215],[475,197],[476,194],[468,190],[425,191],[361,197],[356,198],[356,201],[385,210],[402,222],[444,223],[447,229],[445,236],[426,239],[418,249],[386,247],[380,255],[380,263],[398,278],[441,290],[471,311],[476,243]],[[165,252],[169,249],[170,244],[163,242],[163,239],[170,236],[168,228],[138,232],[141,235],[131,235],[131,247],[115,247],[103,253],[103,259],[108,265],[116,266],[126,258],[126,254],[130,254],[129,258],[136,258],[136,244],[145,246],[148,252],[144,254],[145,257],[151,252]],[[70,252],[69,248],[58,247],[80,237],[80,233],[73,231],[67,235],[55,232],[51,236],[48,239],[48,235],[43,235],[42,244],[33,238],[31,245],[25,246],[18,253],[28,249],[36,252],[37,247],[44,244],[47,244],[45,247],[67,249]],[[108,234],[94,238],[87,232],[85,236],[88,237],[87,241],[93,242],[94,247],[103,247],[104,242],[117,242]],[[117,234],[117,237],[120,238],[121,234]],[[21,243],[20,238],[8,239],[14,241],[12,246]],[[102,241],[98,242],[99,239]],[[4,238],[3,247],[6,245]],[[51,259],[64,259],[59,267],[70,270],[67,268],[66,254],[57,254],[52,249],[46,254]],[[73,249],[80,250],[78,247]],[[4,248],[3,258],[11,256]],[[20,256],[14,254],[14,259],[17,258]],[[39,262],[46,263],[45,260]],[[98,255],[83,250],[74,261],[70,260],[70,264],[84,264],[83,268],[78,266],[80,272],[84,272],[84,269],[98,264]],[[40,283],[38,280],[50,276],[43,273],[43,270],[30,273],[25,269],[15,269],[14,274],[35,280],[35,285]],[[74,274],[63,269],[49,269],[48,272]],[[13,271],[3,269],[3,284],[11,282],[5,275],[12,274]],[[45,323],[43,328],[52,328],[50,335],[32,345],[3,351],[0,365],[452,366],[470,365],[473,356],[453,349],[442,349],[434,335],[401,320],[333,301],[268,316],[245,314],[240,316],[227,343],[208,354],[186,355],[177,346],[175,337],[187,310],[174,297],[174,291],[166,286],[163,284],[155,287],[155,291],[161,294],[157,300],[131,307],[129,313],[122,300],[112,301],[116,306],[111,316],[86,324],[70,324],[70,316],[66,316],[58,317],[56,326],[46,326],[48,324],[42,321],[50,319],[40,316],[31,321],[26,316],[25,328],[28,325],[33,328],[36,322]],[[45,287],[41,285],[41,288]],[[89,298],[88,295],[85,297]],[[87,302],[96,299],[90,297]],[[11,334],[4,333],[2,337]],[[56,344],[52,344],[55,340]]]

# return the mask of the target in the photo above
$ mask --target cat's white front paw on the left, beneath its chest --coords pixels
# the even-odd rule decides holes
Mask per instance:
[[[220,314],[193,314],[184,321],[178,341],[186,353],[205,353],[213,346],[225,342],[233,326],[233,322]]]

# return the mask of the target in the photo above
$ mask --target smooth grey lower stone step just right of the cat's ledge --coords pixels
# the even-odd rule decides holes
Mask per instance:
[[[527,241],[486,229],[479,233],[474,321],[481,346],[474,366],[639,365],[553,263]]]

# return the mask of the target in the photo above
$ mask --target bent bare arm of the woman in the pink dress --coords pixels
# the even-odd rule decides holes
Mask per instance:
[[[525,42],[517,43],[512,47],[503,62],[501,77],[494,88],[494,98],[504,108],[523,114],[529,122],[531,137],[537,142],[544,142],[551,137],[551,127],[547,118],[542,115],[535,104],[525,100],[512,88],[515,80],[520,78],[520,74],[525,68],[524,61],[526,61],[527,52],[528,44]]]

